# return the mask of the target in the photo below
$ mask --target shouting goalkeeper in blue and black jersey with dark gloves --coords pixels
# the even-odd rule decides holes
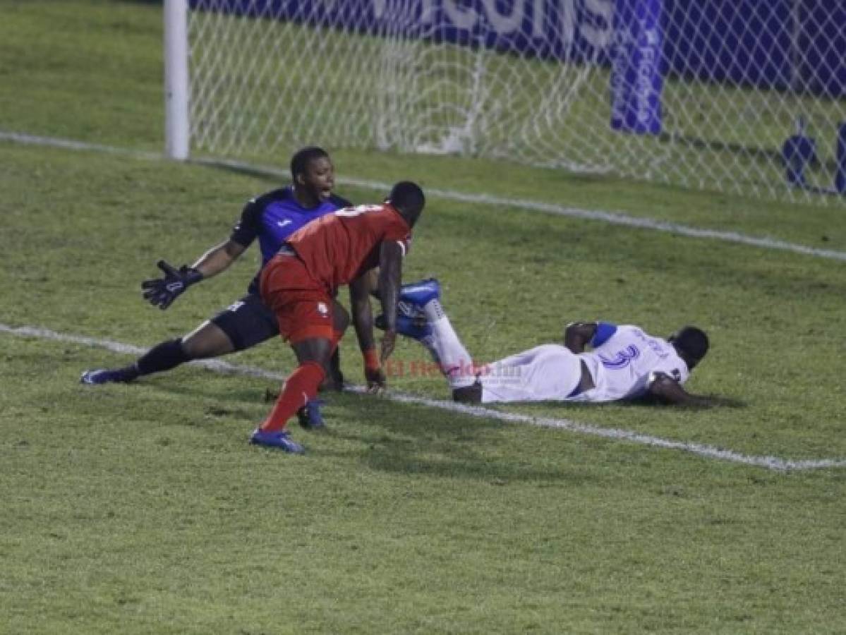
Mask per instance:
[[[288,236],[300,227],[350,206],[349,201],[332,194],[334,167],[327,152],[321,148],[306,147],[294,154],[291,178],[290,185],[250,200],[229,238],[206,251],[193,265],[177,269],[160,260],[158,267],[163,276],[142,283],[144,298],[159,309],[167,309],[192,285],[226,270],[256,238],[261,248],[261,265],[264,266]],[[336,322],[335,329],[343,332],[348,326],[349,315],[338,315]],[[244,297],[188,335],[157,344],[133,364],[123,368],[85,370],[81,381],[84,384],[132,381],[151,373],[171,370],[192,359],[208,359],[243,351],[278,334],[276,316],[261,302],[256,275]],[[324,387],[340,390],[342,385],[336,350]],[[310,411],[312,408],[316,405],[310,404]],[[311,412],[315,415],[314,419],[319,420],[319,414]],[[300,420],[305,421],[302,417]]]

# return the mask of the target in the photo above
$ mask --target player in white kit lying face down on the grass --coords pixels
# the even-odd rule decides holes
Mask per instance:
[[[708,352],[708,337],[695,326],[662,339],[639,326],[574,322],[564,331],[563,346],[545,344],[475,366],[440,296],[434,279],[404,286],[397,331],[429,350],[457,402],[613,402],[643,397],[679,405],[721,402],[682,387]],[[382,326],[381,315],[376,326]]]

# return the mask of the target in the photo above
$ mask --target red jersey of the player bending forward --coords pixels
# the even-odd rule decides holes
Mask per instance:
[[[405,253],[410,232],[391,205],[359,205],[321,216],[286,242],[315,280],[335,289],[378,266],[385,241],[396,240]]]

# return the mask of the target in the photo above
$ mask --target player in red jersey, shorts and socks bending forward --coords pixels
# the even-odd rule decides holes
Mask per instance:
[[[253,431],[252,443],[303,452],[285,427],[288,419],[315,397],[332,351],[343,337],[343,331],[332,327],[332,315],[342,310],[334,300],[338,287],[350,286],[368,383],[380,383],[376,374],[393,352],[397,337],[402,259],[411,228],[425,205],[423,191],[416,183],[396,183],[382,205],[338,210],[299,229],[261,271],[261,298],[276,314],[279,333],[291,344],[299,365],[285,381],[270,414]],[[385,316],[378,356],[372,345],[370,303],[364,301],[371,288],[369,274],[376,267],[377,294]],[[369,335],[362,337],[364,333]]]

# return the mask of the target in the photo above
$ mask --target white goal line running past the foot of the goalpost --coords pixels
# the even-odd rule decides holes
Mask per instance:
[[[67,150],[96,151],[107,152],[112,154],[123,154],[148,160],[165,160],[165,156],[162,155],[162,153],[157,152],[133,151],[109,145],[87,144],[80,141],[56,139],[53,137],[41,137],[32,134],[4,132],[3,130],[0,130],[0,140],[14,141],[16,143],[27,145],[49,145],[52,147],[64,148]],[[192,162],[199,163],[201,165],[231,167],[236,170],[266,174],[275,178],[289,177],[288,170],[280,170],[276,167],[256,166],[250,163],[243,163],[240,161],[228,161],[223,159],[199,157],[193,159]],[[387,194],[387,192],[391,188],[390,183],[368,181],[358,178],[338,178],[338,183],[352,185],[354,187],[364,189],[375,189],[383,194]],[[788,243],[783,240],[777,240],[775,238],[747,236],[746,234],[736,232],[721,232],[715,229],[700,229],[697,227],[688,227],[686,225],[678,225],[674,222],[657,221],[651,218],[629,216],[627,214],[617,211],[584,210],[578,207],[567,207],[565,205],[544,203],[542,201],[537,200],[508,199],[498,196],[491,196],[488,194],[458,192],[451,189],[427,188],[426,195],[433,198],[455,200],[462,203],[496,205],[497,207],[514,207],[522,210],[541,211],[556,216],[569,216],[571,218],[581,218],[588,221],[607,222],[613,225],[622,225],[625,227],[638,227],[640,229],[650,229],[656,232],[674,233],[678,234],[679,236],[689,236],[691,238],[708,238],[711,240],[719,240],[725,243],[746,244],[753,247],[760,247],[762,249],[778,249],[782,251],[790,251],[794,254],[816,256],[817,258],[826,258],[829,260],[846,260],[846,252],[836,251],[834,249],[817,249],[816,247],[809,247],[803,244]]]

